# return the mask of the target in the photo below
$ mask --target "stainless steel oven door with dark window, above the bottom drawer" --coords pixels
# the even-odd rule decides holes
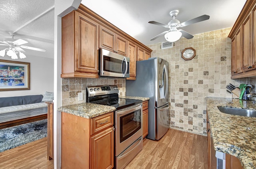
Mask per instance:
[[[142,136],[142,103],[116,111],[116,156]]]

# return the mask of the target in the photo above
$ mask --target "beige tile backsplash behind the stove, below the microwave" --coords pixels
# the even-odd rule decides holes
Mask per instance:
[[[62,106],[86,102],[86,86],[117,85],[119,96],[125,96],[125,79],[62,78]],[[83,100],[78,101],[78,93]]]

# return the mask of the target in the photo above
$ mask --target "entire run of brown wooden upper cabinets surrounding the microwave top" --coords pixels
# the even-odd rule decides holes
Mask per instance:
[[[141,56],[137,56],[138,46]],[[136,79],[136,59],[148,59],[152,51],[82,4],[62,17],[62,78],[98,78],[100,48],[130,57],[128,79],[132,80]]]

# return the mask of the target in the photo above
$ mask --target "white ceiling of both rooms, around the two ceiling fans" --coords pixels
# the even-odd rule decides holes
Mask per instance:
[[[209,20],[182,29],[192,35],[232,27],[246,0],[82,0],[82,4],[122,29],[138,41],[149,45],[165,41],[159,37],[168,30],[148,24],[156,21],[168,24],[171,10],[179,10],[180,22],[207,14]],[[24,49],[26,55],[54,58],[54,0],[1,0],[0,41],[22,38],[24,45],[46,49],[46,52]],[[0,46],[0,50],[5,46]],[[1,59],[1,58],[0,58]]]

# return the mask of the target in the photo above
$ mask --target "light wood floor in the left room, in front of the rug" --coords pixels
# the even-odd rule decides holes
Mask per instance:
[[[47,137],[0,153],[0,169],[53,169],[47,159]]]

